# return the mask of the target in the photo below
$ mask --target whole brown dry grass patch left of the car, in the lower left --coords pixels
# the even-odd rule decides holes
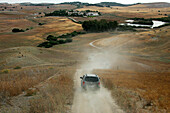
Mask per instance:
[[[66,113],[73,100],[73,75],[74,69],[66,70],[54,66],[3,74],[0,83],[0,112],[11,112],[15,109],[13,113]],[[19,94],[20,96],[12,98]]]

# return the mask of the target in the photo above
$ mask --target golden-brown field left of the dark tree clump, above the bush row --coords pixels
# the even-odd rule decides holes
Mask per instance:
[[[19,22],[19,24],[16,25],[16,22]],[[39,22],[44,22],[45,25],[39,26]],[[8,32],[0,34],[1,49],[29,45],[36,46],[44,41],[49,34],[58,36],[64,33],[82,30],[80,24],[73,23],[71,20],[64,17],[38,18],[34,20],[34,23],[25,19],[8,20],[5,24],[8,23],[11,23],[8,27],[6,27]],[[20,27],[24,29],[30,28],[30,26],[32,28],[28,31],[12,33],[12,28]]]

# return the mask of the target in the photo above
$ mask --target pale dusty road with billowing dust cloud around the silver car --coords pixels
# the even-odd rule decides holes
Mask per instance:
[[[92,73],[94,69],[109,69],[121,58],[118,54],[110,51],[88,51],[87,61],[77,69],[75,74],[75,95],[72,113],[124,113],[111,97],[111,93],[102,86],[100,90],[90,91],[81,89],[80,77],[86,73]]]

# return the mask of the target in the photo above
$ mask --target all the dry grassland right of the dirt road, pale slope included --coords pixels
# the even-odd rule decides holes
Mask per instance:
[[[113,58],[117,68],[113,66],[94,73],[101,77],[104,86],[112,91],[112,96],[126,112],[169,112],[169,32],[168,26],[120,34],[94,43],[108,51],[113,48],[123,55],[120,59]],[[138,63],[134,65],[132,62]]]

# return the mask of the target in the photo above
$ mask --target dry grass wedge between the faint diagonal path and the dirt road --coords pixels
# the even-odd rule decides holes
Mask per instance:
[[[71,70],[58,77],[50,79],[40,95],[30,100],[30,113],[59,112],[66,113],[70,110],[73,101],[73,80]]]

